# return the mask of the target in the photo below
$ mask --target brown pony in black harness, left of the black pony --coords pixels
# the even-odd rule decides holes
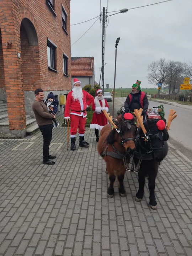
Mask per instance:
[[[126,196],[123,180],[128,167],[130,156],[135,151],[135,135],[137,133],[136,120],[125,120],[121,115],[117,116],[117,129],[110,124],[101,130],[97,150],[106,162],[106,172],[109,174],[110,186],[107,189],[107,197],[114,194],[114,181],[117,176],[118,190],[121,197]]]

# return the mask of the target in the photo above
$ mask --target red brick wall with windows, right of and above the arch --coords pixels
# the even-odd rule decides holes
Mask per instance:
[[[62,4],[68,14],[67,31],[69,35],[62,28]],[[21,8],[22,6],[25,6],[25,8]],[[30,4],[27,0],[17,0],[13,8],[13,13],[17,15],[15,19],[17,22],[17,32],[20,29],[20,23],[24,17],[29,18],[36,28],[39,44],[41,87],[43,90],[70,90],[70,0],[55,0],[54,11],[57,17],[54,17],[49,10],[45,0],[30,0]],[[48,70],[47,37],[57,45],[56,64],[58,73]],[[69,77],[63,75],[63,52],[69,56]]]

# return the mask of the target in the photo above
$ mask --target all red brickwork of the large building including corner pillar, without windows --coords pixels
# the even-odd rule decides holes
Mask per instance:
[[[71,90],[70,0],[55,0],[54,4],[57,17],[53,16],[48,9],[45,0],[0,1],[0,28],[10,129],[26,127],[23,81],[25,90],[34,90],[34,87],[42,87],[43,90]],[[62,28],[62,4],[68,14],[67,31],[69,35]],[[24,51],[21,49],[20,39],[20,26],[23,18],[28,18],[33,23],[38,36],[40,68],[38,86],[28,86],[25,80],[27,72],[25,70],[23,72],[22,67],[27,64],[27,54],[23,56],[25,60],[23,64],[22,56],[21,58],[17,56],[18,53],[22,54]],[[57,73],[48,70],[47,37],[58,46],[56,62],[59,72]],[[12,43],[11,46],[7,45],[8,41]],[[63,76],[63,52],[69,56],[69,77]],[[33,64],[35,58],[33,58]],[[32,77],[29,69],[28,66],[28,74]],[[32,83],[32,85],[34,84],[36,82]]]

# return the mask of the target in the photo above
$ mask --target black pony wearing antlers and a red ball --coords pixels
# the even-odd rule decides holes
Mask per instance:
[[[149,187],[149,204],[151,209],[156,209],[155,198],[155,179],[158,174],[160,162],[165,158],[168,152],[167,140],[169,139],[168,130],[171,121],[176,118],[176,111],[170,110],[169,119],[158,120],[148,119],[143,122],[140,115],[141,111],[135,110],[134,114],[140,124],[138,130],[136,151],[134,153],[134,160],[132,168],[138,170],[139,190],[136,194],[135,201],[140,202],[144,196],[145,176],[148,176]]]

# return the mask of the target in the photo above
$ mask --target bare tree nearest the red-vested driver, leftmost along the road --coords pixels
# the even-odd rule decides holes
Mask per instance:
[[[163,84],[168,75],[169,63],[170,62],[166,61],[165,59],[160,59],[149,64],[149,73],[146,77],[148,79],[148,82],[153,85],[158,83]]]

